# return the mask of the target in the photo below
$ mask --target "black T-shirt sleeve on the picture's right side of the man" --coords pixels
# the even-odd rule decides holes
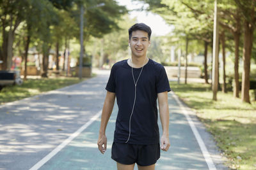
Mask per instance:
[[[169,80],[163,66],[161,66],[161,69],[157,76],[156,89],[157,89],[157,93],[166,92],[166,91],[170,92],[171,90]]]

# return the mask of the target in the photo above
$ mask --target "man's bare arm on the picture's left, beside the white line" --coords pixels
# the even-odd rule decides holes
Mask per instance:
[[[104,106],[102,108],[101,122],[100,122],[100,131],[98,139],[98,148],[101,153],[106,152],[107,150],[107,137],[106,137],[106,127],[108,125],[109,117],[113,111],[113,106],[115,104],[116,94],[113,92],[107,92],[106,98],[104,101]]]

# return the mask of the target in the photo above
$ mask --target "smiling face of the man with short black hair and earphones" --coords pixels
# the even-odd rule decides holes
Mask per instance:
[[[144,57],[147,55],[148,45],[148,33],[145,31],[132,31],[131,39],[129,40],[132,56]]]

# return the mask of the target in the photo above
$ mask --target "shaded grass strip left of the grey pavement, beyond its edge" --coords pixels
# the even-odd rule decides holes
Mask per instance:
[[[4,104],[17,101],[26,97],[35,96],[41,92],[60,89],[61,87],[79,83],[80,81],[79,78],[74,77],[28,79],[22,85],[4,87],[0,92],[0,103]]]

